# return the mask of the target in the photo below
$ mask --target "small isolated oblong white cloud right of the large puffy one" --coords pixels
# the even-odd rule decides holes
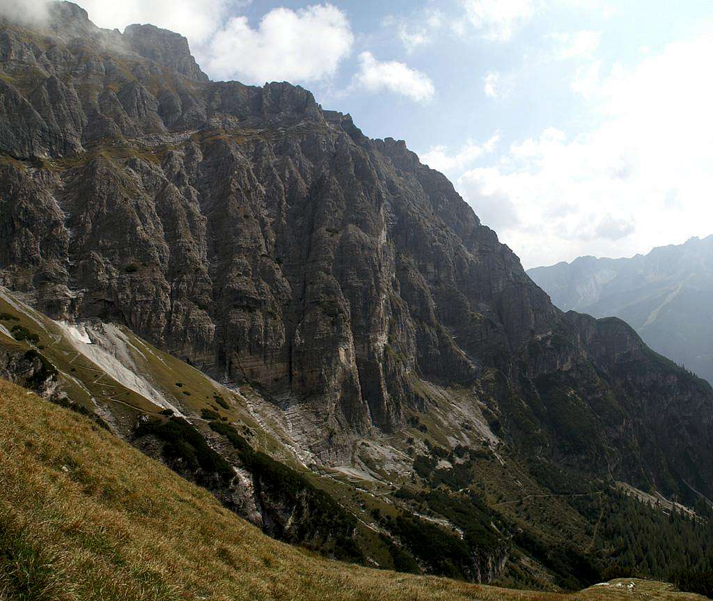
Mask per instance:
[[[425,73],[405,63],[377,61],[371,52],[359,54],[359,71],[352,85],[372,93],[401,94],[416,102],[428,102],[436,94],[434,83]]]

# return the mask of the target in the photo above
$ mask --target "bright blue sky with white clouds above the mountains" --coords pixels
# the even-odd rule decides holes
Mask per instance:
[[[78,0],[406,140],[525,268],[713,233],[713,0]]]

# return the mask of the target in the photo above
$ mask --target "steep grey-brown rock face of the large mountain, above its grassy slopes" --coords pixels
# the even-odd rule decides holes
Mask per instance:
[[[555,309],[403,142],[60,6],[46,31],[0,27],[0,283],[259,385],[334,461],[427,410],[426,379],[471,388],[528,453],[712,490],[709,386]]]

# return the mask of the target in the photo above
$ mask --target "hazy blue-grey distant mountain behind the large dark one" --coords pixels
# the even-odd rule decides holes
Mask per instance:
[[[557,307],[620,317],[646,344],[713,382],[713,235],[630,259],[529,269]]]

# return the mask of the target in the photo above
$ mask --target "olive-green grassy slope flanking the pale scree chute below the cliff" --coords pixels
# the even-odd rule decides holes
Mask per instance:
[[[2,315],[10,315],[12,319],[1,319]],[[16,341],[0,329],[0,349],[24,353],[29,349],[39,349],[41,354],[58,370],[60,389],[66,391],[69,398],[89,411],[95,412],[99,406],[113,416],[113,426],[123,436],[130,436],[138,417],[142,414],[155,414],[160,407],[149,399],[131,391],[111,376],[106,375],[101,366],[91,359],[76,353],[76,347],[68,339],[61,327],[45,315],[37,312],[29,305],[0,287],[0,326],[9,331],[19,324],[32,334],[39,336],[39,347],[28,341]],[[108,327],[113,327],[107,324]],[[198,369],[185,364],[180,359],[160,351],[155,346],[135,336],[130,330],[117,327],[128,344],[122,349],[126,356],[120,359],[125,367],[145,378],[153,388],[159,391],[165,399],[190,416],[193,424],[199,428],[203,436],[215,439],[207,422],[200,418],[203,409],[215,411],[227,421],[238,426],[247,434],[250,444],[257,450],[267,453],[278,461],[286,464],[300,473],[304,473],[309,481],[327,490],[330,495],[339,500],[342,505],[356,515],[361,515],[361,504],[369,500],[367,493],[354,490],[354,486],[339,481],[329,472],[324,475],[305,471],[304,466],[292,451],[292,442],[287,440],[275,418],[276,411],[265,411],[266,402],[249,385],[243,384],[240,393],[226,389],[213,381]],[[81,345],[79,345],[81,348]],[[98,374],[103,374],[97,383]],[[180,383],[180,386],[177,386]],[[187,395],[188,393],[188,395]],[[217,404],[218,395],[228,409]],[[96,402],[92,400],[96,399]],[[247,403],[261,407],[260,423],[252,416]],[[106,416],[106,413],[104,413]],[[241,427],[242,426],[242,427]],[[247,428],[247,431],[245,430]],[[220,437],[217,437],[220,438]],[[225,441],[223,441],[225,443]],[[391,565],[391,556],[385,552],[383,542],[373,530],[359,522],[356,540],[366,550],[369,557],[379,565]]]

